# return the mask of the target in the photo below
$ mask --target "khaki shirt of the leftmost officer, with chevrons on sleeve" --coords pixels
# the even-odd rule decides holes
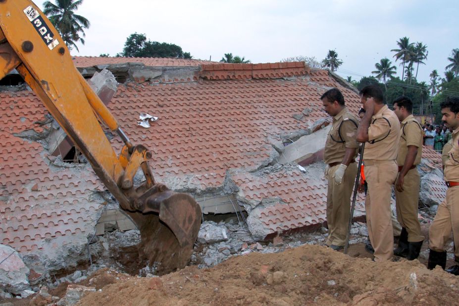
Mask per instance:
[[[357,157],[357,122],[357,118],[347,107],[333,117],[332,128],[328,132],[323,153],[325,163],[342,162],[346,148],[356,149],[354,158]]]

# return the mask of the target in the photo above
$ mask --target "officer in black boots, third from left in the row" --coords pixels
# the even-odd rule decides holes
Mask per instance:
[[[394,254],[416,259],[421,251],[424,236],[417,218],[420,177],[416,165],[421,162],[423,131],[412,115],[413,103],[406,96],[394,101],[394,112],[401,122],[401,135],[397,164],[399,175],[395,184],[397,220],[402,224],[398,248]]]

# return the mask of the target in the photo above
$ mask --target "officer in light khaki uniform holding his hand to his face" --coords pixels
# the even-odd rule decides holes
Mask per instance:
[[[360,91],[365,115],[357,129],[357,141],[365,143],[363,163],[368,193],[366,223],[376,262],[392,258],[394,236],[391,222],[391,193],[398,173],[396,162],[400,143],[400,122],[384,102],[376,85]]]

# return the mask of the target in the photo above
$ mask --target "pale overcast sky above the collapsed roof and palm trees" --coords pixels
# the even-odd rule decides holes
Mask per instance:
[[[394,64],[391,49],[408,36],[428,47],[418,73],[427,81],[433,69],[443,76],[447,57],[459,48],[458,12],[453,0],[84,0],[77,13],[91,27],[72,55],[114,56],[134,32],[217,61],[228,52],[253,63],[298,55],[322,60],[335,49],[344,62],[338,73],[359,80],[383,57]]]

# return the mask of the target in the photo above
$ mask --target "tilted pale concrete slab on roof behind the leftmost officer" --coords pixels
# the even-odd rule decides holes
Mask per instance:
[[[280,163],[296,162],[308,165],[323,159],[323,149],[331,126],[301,137],[284,148],[279,157]]]

